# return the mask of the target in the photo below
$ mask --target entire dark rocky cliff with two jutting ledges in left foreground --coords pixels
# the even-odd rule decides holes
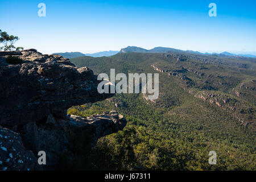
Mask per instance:
[[[9,55],[23,64],[7,63]],[[88,118],[67,115],[73,105],[113,96],[98,93],[99,82],[92,70],[77,69],[59,55],[35,49],[0,52],[0,169],[55,169],[61,152],[72,153],[68,146],[76,135],[88,133],[93,146],[122,130],[126,120],[115,111]],[[46,166],[38,165],[38,151],[46,152]]]

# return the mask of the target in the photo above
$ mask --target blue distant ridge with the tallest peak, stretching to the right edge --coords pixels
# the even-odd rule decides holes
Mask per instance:
[[[222,53],[202,53],[199,51],[191,51],[191,50],[187,50],[187,51],[183,51],[180,49],[174,49],[174,48],[168,48],[168,47],[155,47],[152,49],[144,49],[141,47],[135,47],[135,46],[128,46],[126,48],[121,49],[120,52],[122,53],[129,53],[129,52],[141,52],[141,53],[166,53],[166,52],[170,52],[170,51],[174,51],[174,52],[187,52],[187,53],[196,53],[196,54],[200,54],[200,55],[226,55],[226,56],[243,56],[243,57],[256,57],[255,55],[250,55],[250,54],[234,54],[234,53],[229,53],[229,52],[222,52]]]

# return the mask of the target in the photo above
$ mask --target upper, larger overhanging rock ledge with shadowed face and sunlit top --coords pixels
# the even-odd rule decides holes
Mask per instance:
[[[21,65],[0,59],[0,125],[40,122],[49,114],[65,118],[65,110],[73,105],[113,96],[97,92],[99,81],[89,68],[77,69],[69,59],[35,49],[21,53]]]

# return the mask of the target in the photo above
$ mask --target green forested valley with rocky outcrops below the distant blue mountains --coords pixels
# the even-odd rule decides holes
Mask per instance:
[[[123,93],[71,107],[68,114],[84,117],[117,110],[128,123],[93,150],[77,147],[72,160],[61,160],[63,169],[255,170],[256,59],[170,51],[71,62],[94,74],[159,73],[159,98]],[[208,163],[209,151],[216,151],[216,165]]]

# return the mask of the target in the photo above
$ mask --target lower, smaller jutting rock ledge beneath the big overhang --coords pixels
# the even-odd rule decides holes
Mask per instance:
[[[66,119],[49,115],[45,123],[23,125],[19,133],[28,150],[46,151],[47,166],[44,168],[56,169],[61,153],[67,152],[72,156],[74,149],[70,146],[74,140],[81,140],[93,147],[99,138],[123,130],[126,123],[126,119],[116,111],[90,117],[68,115]]]

